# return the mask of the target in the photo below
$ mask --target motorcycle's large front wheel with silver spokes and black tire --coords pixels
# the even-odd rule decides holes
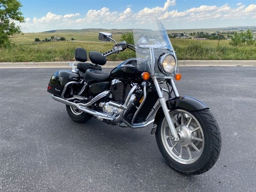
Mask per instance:
[[[172,168],[182,174],[202,174],[216,163],[221,148],[219,126],[208,109],[170,111],[179,140],[174,142],[163,116],[158,122],[156,142]]]

